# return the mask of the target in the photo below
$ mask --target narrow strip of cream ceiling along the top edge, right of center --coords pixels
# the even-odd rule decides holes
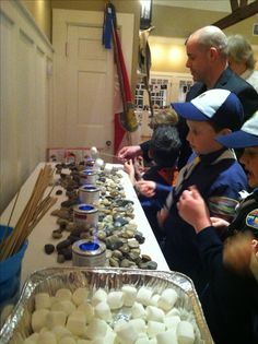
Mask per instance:
[[[248,3],[255,0],[249,0]],[[187,9],[199,9],[231,13],[231,1],[230,0],[153,0],[153,4],[156,5],[171,5]]]

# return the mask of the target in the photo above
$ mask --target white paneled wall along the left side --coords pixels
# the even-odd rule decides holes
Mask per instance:
[[[0,1],[0,213],[45,161],[52,48],[19,0]]]

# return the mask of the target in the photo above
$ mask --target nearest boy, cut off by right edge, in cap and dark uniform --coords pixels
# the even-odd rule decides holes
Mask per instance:
[[[195,227],[198,250],[209,275],[201,304],[214,342],[257,344],[258,111],[239,131],[219,137],[218,141],[227,147],[245,149],[241,163],[253,193],[242,201],[231,224],[210,217],[196,187],[183,192],[178,211]],[[224,246],[215,230],[218,226],[227,226]]]

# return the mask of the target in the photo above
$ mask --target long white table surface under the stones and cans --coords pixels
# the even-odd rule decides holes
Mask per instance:
[[[24,182],[20,190],[20,194],[16,201],[16,205],[11,217],[10,225],[14,226],[16,221],[19,220],[20,215],[22,214],[30,197],[33,191],[35,181],[37,179],[39,170],[44,167],[45,163],[40,163],[37,165],[35,170],[31,174],[28,179]],[[134,222],[138,224],[138,230],[141,232],[144,237],[145,241],[141,245],[141,253],[148,254],[157,263],[157,270],[168,271],[169,268],[163,257],[163,253],[160,249],[160,246],[155,239],[155,236],[150,227],[150,224],[145,217],[145,214],[141,207],[141,204],[138,200],[138,197],[134,192],[134,189],[131,185],[128,175],[122,170],[119,171],[122,176],[122,186],[125,188],[127,199],[133,201],[134,206]],[[59,176],[55,175],[55,179],[58,179]],[[56,186],[52,190],[52,194],[56,194],[58,189],[62,189],[60,186]],[[50,187],[49,187],[50,190]],[[63,190],[63,189],[62,189]],[[28,238],[28,247],[25,252],[23,264],[22,264],[22,284],[25,282],[27,276],[39,269],[50,268],[50,266],[71,266],[71,261],[66,261],[64,263],[60,264],[57,262],[57,254],[46,254],[44,251],[45,244],[52,244],[57,245],[57,239],[51,237],[51,233],[54,229],[58,228],[56,224],[57,217],[50,215],[50,213],[55,209],[59,209],[62,201],[66,200],[64,192],[61,195],[56,195],[58,198],[57,203],[48,211],[48,213],[42,218],[42,221],[37,224],[37,226],[33,229],[32,234]],[[2,215],[0,216],[0,224],[8,224],[10,220],[10,214],[13,209],[13,204],[15,201],[15,197],[10,202],[8,207],[4,210]]]

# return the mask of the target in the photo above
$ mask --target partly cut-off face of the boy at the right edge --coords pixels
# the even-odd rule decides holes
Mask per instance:
[[[258,147],[245,149],[241,156],[241,163],[245,165],[248,183],[251,188],[258,187]]]

